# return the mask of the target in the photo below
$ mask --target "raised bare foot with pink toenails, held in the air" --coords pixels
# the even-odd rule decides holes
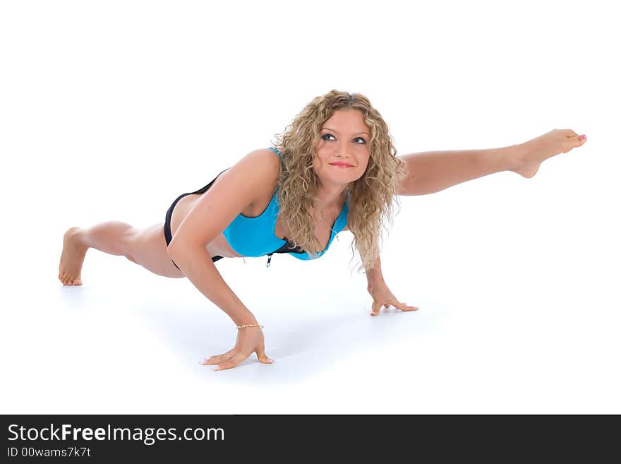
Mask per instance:
[[[543,136],[522,143],[524,150],[516,163],[517,167],[511,170],[522,177],[533,177],[543,161],[559,153],[567,153],[585,142],[586,136],[578,136],[572,129],[553,129]]]

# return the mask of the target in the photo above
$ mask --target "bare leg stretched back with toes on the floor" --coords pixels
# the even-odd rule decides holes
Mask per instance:
[[[59,264],[59,280],[63,285],[82,285],[80,274],[89,248],[125,256],[158,275],[183,277],[168,256],[162,223],[145,229],[119,221],[102,222],[85,229],[71,227],[64,235]]]

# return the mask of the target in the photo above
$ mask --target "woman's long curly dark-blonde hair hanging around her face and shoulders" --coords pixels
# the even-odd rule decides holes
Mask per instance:
[[[339,109],[362,112],[370,132],[368,166],[360,179],[346,187],[349,190],[347,225],[354,234],[351,259],[354,259],[356,246],[361,257],[358,271],[367,271],[373,268],[379,256],[381,228],[388,230],[387,222],[392,225],[394,204],[401,208],[397,185],[407,172],[405,163],[397,158],[388,125],[364,95],[330,90],[315,97],[282,134],[276,134],[274,146],[282,155],[279,215],[289,228],[287,238],[291,244],[300,246],[311,258],[323,251],[315,237],[315,222],[308,212],[315,206],[318,192],[318,178],[313,169],[314,147],[320,139],[321,126]]]

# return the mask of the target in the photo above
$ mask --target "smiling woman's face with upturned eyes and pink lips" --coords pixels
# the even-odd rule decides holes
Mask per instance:
[[[315,145],[313,167],[320,184],[341,188],[360,179],[368,165],[369,141],[370,131],[360,111],[335,111],[321,126],[320,140]]]

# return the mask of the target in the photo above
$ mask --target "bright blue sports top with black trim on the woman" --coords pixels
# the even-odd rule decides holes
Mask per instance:
[[[276,148],[271,148],[273,152],[280,156],[280,152]],[[267,261],[267,266],[270,265],[272,254],[274,253],[287,253],[295,256],[298,259],[309,260],[312,259],[308,256],[306,251],[303,251],[299,246],[294,247],[287,237],[285,239],[279,239],[276,237],[274,230],[276,227],[276,220],[279,213],[279,196],[278,188],[272,195],[272,200],[267,208],[261,213],[260,216],[255,218],[248,218],[242,214],[231,222],[222,234],[226,237],[227,242],[232,249],[243,256],[265,256],[269,255],[270,259]],[[349,191],[347,191],[347,197],[341,213],[332,225],[332,232],[330,232],[330,240],[327,242],[325,250],[323,250],[317,257],[322,256],[334,239],[334,235],[343,230],[343,227],[347,224],[347,213],[349,208],[347,201],[349,200]]]

